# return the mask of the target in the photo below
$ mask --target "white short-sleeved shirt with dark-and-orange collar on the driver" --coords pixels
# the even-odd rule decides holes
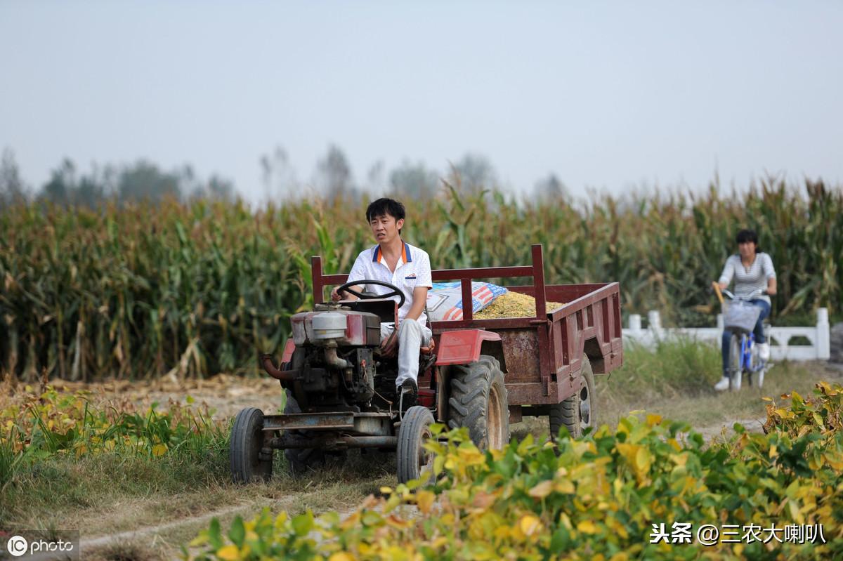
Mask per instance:
[[[398,264],[395,265],[395,272],[393,272],[389,270],[389,266],[386,264],[384,252],[381,251],[380,245],[375,245],[364,249],[357,255],[357,259],[352,266],[352,272],[348,274],[348,282],[363,279],[389,282],[403,292],[405,300],[404,305],[398,308],[398,318],[399,320],[404,319],[413,305],[413,291],[416,290],[416,287],[433,287],[430,256],[423,249],[404,242],[404,248],[401,251]],[[361,290],[360,286],[357,286],[355,290]],[[389,288],[380,285],[366,285],[362,287],[362,290],[375,294],[389,292]],[[393,300],[398,302],[398,297],[393,297]],[[417,321],[421,325],[427,323],[427,316],[423,311]]]

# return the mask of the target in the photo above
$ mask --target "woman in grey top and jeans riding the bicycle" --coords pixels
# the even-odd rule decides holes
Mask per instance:
[[[758,234],[752,230],[741,230],[738,232],[737,241],[738,254],[730,255],[726,259],[726,265],[723,267],[720,280],[718,280],[720,288],[728,288],[729,283],[734,279],[734,292],[737,297],[749,297],[758,290],[766,291],[770,296],[775,296],[776,270],[773,268],[773,259],[758,247]],[[766,361],[770,358],[770,344],[767,343],[764,336],[764,319],[770,315],[770,297],[762,294],[749,302],[761,308],[753,333],[755,341],[759,344],[758,355],[762,361]],[[723,377],[714,386],[714,389],[718,392],[727,390],[729,387],[728,363],[731,338],[731,332],[724,329],[722,341]]]

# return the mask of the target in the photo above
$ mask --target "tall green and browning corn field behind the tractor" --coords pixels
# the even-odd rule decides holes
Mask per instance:
[[[778,273],[773,323],[840,313],[843,190],[768,180],[746,195],[524,202],[499,192],[405,201],[403,238],[435,268],[528,264],[548,283],[620,282],[624,313],[713,324],[711,295],[739,229]],[[256,371],[312,304],[309,256],[346,272],[373,243],[366,203],[28,205],[0,214],[0,372],[71,380]],[[524,280],[526,283],[527,280]]]

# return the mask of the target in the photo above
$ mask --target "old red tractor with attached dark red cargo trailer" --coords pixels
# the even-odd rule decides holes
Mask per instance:
[[[623,362],[618,283],[545,285],[536,244],[529,265],[432,271],[434,281],[459,281],[462,302],[471,302],[472,280],[526,278],[529,284],[507,289],[534,297],[536,313],[475,319],[472,307],[464,306],[462,319],[430,323],[432,342],[420,356],[419,403],[402,412],[397,360],[379,354],[379,323],[395,321],[399,306],[365,293],[360,300],[324,302],[325,287],[366,281],[349,286],[346,274],[325,275],[318,256],[311,269],[319,303],[313,312],[293,316],[293,338],[280,366],[272,356],[260,356],[280,380],[287,405],[283,414],[254,408],[238,414],[230,449],[236,481],[268,478],[274,449],[283,449],[293,472],[301,473],[325,454],[352,447],[395,450],[399,480],[421,478],[432,466],[422,444],[437,421],[468,428],[481,448],[505,446],[510,423],[524,416],[547,417],[551,436],[564,426],[578,437],[597,422],[594,375]],[[565,303],[549,310],[549,301]]]

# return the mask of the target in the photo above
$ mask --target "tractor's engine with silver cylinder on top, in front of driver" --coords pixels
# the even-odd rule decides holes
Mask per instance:
[[[293,393],[317,407],[369,403],[375,394],[379,316],[336,304],[315,308],[291,318],[296,350],[287,368],[299,373]]]

